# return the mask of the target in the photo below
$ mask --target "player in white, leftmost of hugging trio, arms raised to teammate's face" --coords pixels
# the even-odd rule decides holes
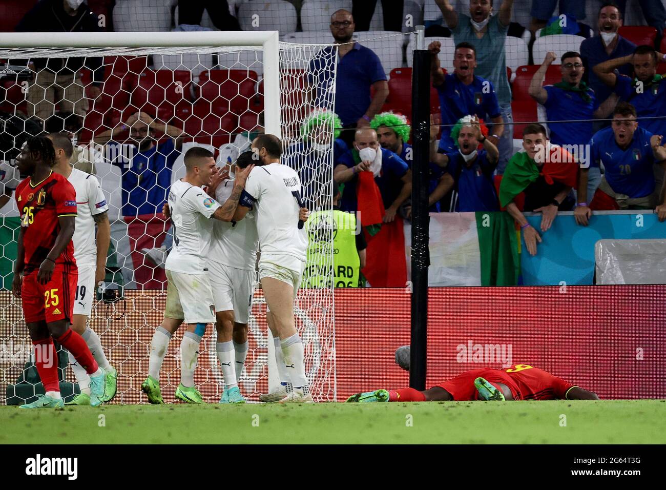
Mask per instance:
[[[206,325],[215,321],[215,308],[208,275],[208,250],[213,222],[231,221],[252,166],[236,174],[230,196],[220,205],[202,189],[210,185],[215,159],[210,151],[194,147],[184,156],[186,175],[174,182],[168,193],[168,216],[174,227],[174,246],[166,259],[165,319],[151,341],[149,376],[141,385],[151,403],[164,403],[160,370],[171,335],[184,321],[187,331],[180,343],[180,385],[176,398],[202,403],[194,386],[194,369]]]

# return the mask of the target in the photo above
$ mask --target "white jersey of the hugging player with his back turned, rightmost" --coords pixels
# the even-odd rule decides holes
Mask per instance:
[[[298,228],[301,193],[298,173],[281,163],[254,167],[245,183],[245,192],[254,201],[262,257],[290,255],[304,262],[308,234],[305,227]]]

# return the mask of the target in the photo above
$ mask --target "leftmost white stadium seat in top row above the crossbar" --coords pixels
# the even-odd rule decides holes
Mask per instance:
[[[170,31],[171,7],[164,0],[123,0],[113,8],[117,32]]]

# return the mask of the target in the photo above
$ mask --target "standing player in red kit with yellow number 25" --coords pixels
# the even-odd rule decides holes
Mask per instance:
[[[74,187],[51,167],[53,143],[47,137],[29,138],[16,159],[22,175],[30,175],[16,188],[21,229],[12,292],[21,298],[23,316],[35,346],[35,366],[45,395],[21,408],[62,407],[58,362],[53,339],[69,350],[91,378],[91,405],[101,403],[104,371],[85,341],[69,326],[77,287],[74,260],[74,222],[77,199]]]

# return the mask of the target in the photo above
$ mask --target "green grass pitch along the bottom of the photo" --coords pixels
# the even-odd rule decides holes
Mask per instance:
[[[655,444],[663,443],[665,402],[106,405],[25,411],[0,407],[0,444]]]

